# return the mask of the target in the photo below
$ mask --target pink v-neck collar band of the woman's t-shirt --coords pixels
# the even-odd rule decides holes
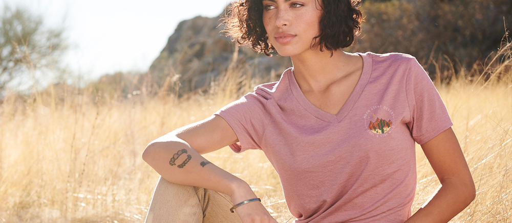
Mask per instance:
[[[317,108],[311,102],[308,101],[308,98],[304,95],[301,88],[298,86],[297,81],[295,80],[295,75],[293,73],[293,69],[290,69],[291,75],[288,76],[288,83],[290,83],[291,92],[293,93],[293,96],[296,98],[298,103],[302,105],[302,107],[308,111],[311,115],[315,116],[318,119],[321,119],[323,121],[336,123],[341,121],[349,111],[352,109],[352,107],[355,105],[357,100],[362,94],[362,91],[365,89],[366,85],[368,84],[368,80],[370,80],[370,75],[372,72],[372,58],[368,53],[362,54],[357,53],[360,57],[362,57],[362,72],[361,77],[359,78],[359,81],[357,81],[357,84],[350,94],[349,98],[343,105],[343,107],[338,111],[337,114],[333,115],[329,112],[326,112],[322,109]]]

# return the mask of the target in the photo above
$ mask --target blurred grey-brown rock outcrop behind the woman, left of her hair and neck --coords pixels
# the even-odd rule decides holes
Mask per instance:
[[[173,35],[150,67],[148,75],[162,86],[170,77],[179,81],[179,92],[205,90],[215,78],[226,73],[230,64],[244,66],[244,75],[268,77],[291,66],[289,58],[268,58],[248,47],[236,47],[224,35],[221,16],[195,17],[178,24]],[[238,51],[236,61],[233,52]],[[233,65],[231,65],[233,66]],[[279,77],[277,77],[279,78]],[[265,79],[265,78],[263,78]]]

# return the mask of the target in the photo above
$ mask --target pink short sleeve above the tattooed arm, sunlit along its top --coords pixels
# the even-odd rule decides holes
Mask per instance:
[[[241,153],[249,149],[261,150],[261,141],[269,115],[266,98],[256,93],[247,93],[215,113],[222,117],[237,134],[239,142],[229,145],[231,150]]]

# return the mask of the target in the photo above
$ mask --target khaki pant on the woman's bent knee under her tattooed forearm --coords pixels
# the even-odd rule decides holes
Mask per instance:
[[[241,223],[229,196],[216,191],[158,181],[146,223]]]

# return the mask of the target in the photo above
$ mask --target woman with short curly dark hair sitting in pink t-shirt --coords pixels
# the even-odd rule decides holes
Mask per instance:
[[[297,223],[447,222],[473,201],[475,186],[452,122],[418,62],[403,54],[342,51],[360,31],[357,5],[232,4],[228,34],[266,55],[275,49],[289,56],[293,67],[279,82],[257,86],[146,147],[143,159],[163,178],[146,222],[276,222],[247,183],[200,155],[226,145],[265,153]],[[411,216],[415,141],[442,187]]]

